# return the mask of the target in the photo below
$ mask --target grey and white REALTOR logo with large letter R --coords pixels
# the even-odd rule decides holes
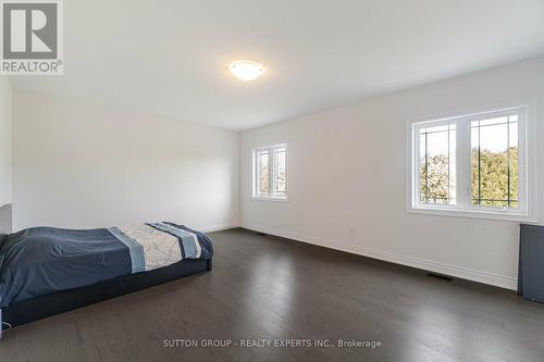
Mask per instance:
[[[61,3],[1,2],[1,74],[62,74]]]

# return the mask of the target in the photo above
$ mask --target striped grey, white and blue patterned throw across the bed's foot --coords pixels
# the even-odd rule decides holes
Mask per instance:
[[[152,271],[184,259],[209,259],[211,244],[201,233],[173,223],[147,223],[110,227],[113,236],[128,247],[132,272]]]

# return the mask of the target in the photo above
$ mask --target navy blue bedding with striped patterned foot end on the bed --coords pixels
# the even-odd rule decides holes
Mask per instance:
[[[202,233],[165,222],[147,225],[168,234],[164,239],[175,237],[178,240],[171,249],[181,258],[170,263],[213,255],[211,241]],[[191,245],[189,235],[194,235]],[[137,237],[124,234],[122,228],[33,227],[11,234],[0,241],[0,308],[165,266],[168,260],[151,260],[161,240],[143,246]]]

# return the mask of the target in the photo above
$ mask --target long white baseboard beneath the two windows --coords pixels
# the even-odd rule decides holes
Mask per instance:
[[[287,239],[313,244],[313,245],[317,245],[320,247],[325,247],[325,248],[341,250],[341,251],[347,251],[347,252],[350,252],[354,254],[359,254],[359,255],[369,257],[369,258],[373,258],[373,259],[384,260],[387,262],[407,265],[407,266],[411,266],[411,267],[422,269],[422,270],[434,272],[434,273],[440,273],[440,274],[459,277],[462,279],[483,283],[483,284],[487,284],[487,285],[492,285],[492,286],[500,287],[500,288],[505,288],[505,289],[516,290],[517,286],[518,286],[517,278],[512,278],[512,277],[505,276],[505,275],[498,275],[498,274],[494,274],[494,273],[477,271],[477,270],[472,270],[472,269],[468,269],[468,267],[463,267],[463,266],[456,266],[456,265],[448,265],[448,264],[444,264],[444,263],[437,263],[437,262],[434,262],[431,260],[397,254],[397,253],[393,253],[390,251],[378,250],[378,249],[361,247],[361,246],[346,244],[346,242],[338,242],[338,241],[334,241],[334,240],[318,237],[318,236],[308,236],[308,235],[302,235],[302,234],[293,233],[293,232],[284,232],[284,230],[273,229],[273,228],[261,226],[261,225],[243,224],[242,227],[250,229],[250,230],[255,230],[255,232],[260,232],[260,233],[265,233],[265,234],[270,234],[270,235],[284,237]]]

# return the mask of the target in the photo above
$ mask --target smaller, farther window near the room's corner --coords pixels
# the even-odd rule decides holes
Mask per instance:
[[[254,198],[287,199],[287,145],[254,149]]]

